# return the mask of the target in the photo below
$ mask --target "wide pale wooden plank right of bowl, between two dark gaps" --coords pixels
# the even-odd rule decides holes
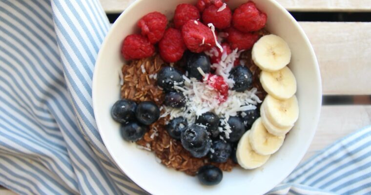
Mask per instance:
[[[371,94],[371,22],[299,22],[320,65],[324,94]]]

